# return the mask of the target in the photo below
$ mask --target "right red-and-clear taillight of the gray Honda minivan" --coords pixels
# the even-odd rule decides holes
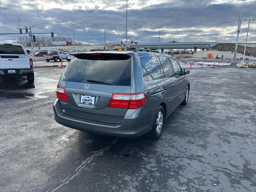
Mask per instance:
[[[113,93],[108,103],[108,107],[138,109],[142,107],[145,100],[146,100],[145,93],[136,93],[136,94]]]

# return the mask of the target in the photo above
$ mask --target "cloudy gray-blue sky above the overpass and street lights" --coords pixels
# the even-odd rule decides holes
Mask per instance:
[[[33,32],[58,32],[76,41],[103,44],[125,40],[126,2],[124,0],[0,0],[0,33],[15,33],[16,28],[33,26]],[[256,18],[256,0],[129,0],[128,40],[138,43],[218,41],[234,42],[238,16]],[[18,21],[20,19],[20,22]],[[248,21],[243,21],[239,42],[245,42]],[[20,35],[1,35],[0,41]],[[45,35],[50,37],[50,35]],[[256,41],[256,22],[250,24],[249,42]]]

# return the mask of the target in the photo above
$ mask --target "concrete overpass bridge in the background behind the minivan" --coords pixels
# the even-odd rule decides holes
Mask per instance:
[[[159,49],[161,52],[164,52],[164,49],[208,49],[214,45],[218,44],[218,42],[171,42],[171,43],[160,43]],[[141,44],[127,44],[128,48],[149,48],[149,49],[158,49],[158,43],[141,43]]]

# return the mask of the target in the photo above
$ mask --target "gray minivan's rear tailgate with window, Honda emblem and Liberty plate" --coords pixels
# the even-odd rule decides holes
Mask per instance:
[[[120,124],[127,108],[109,108],[113,93],[130,94],[131,57],[118,53],[79,53],[68,64],[58,86],[68,101],[64,114],[86,120]]]

